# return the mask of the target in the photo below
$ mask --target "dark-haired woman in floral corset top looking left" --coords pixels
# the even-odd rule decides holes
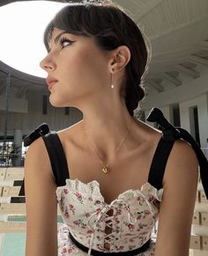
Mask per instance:
[[[145,95],[144,35],[114,4],[70,4],[44,41],[49,101],[83,119],[55,145],[45,136],[27,151],[26,256],[188,256],[197,156],[182,139],[162,149],[164,134],[134,117]]]

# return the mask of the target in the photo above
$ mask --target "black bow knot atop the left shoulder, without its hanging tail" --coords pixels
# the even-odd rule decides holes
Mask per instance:
[[[41,136],[47,134],[49,132],[49,127],[48,124],[41,124],[39,125],[34,132],[30,133],[29,135],[26,136],[24,139],[24,146],[28,147],[30,144],[35,140],[40,138]]]

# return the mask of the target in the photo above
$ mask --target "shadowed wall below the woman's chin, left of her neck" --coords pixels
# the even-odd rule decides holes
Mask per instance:
[[[26,113],[9,112],[7,134],[13,135],[15,129],[20,129],[27,135],[42,123],[47,123],[50,130],[58,131],[82,119],[82,113],[75,108],[70,108],[70,115],[64,114],[64,108],[55,108],[48,102],[48,114],[42,114],[42,92],[28,91],[26,98],[28,111]],[[3,134],[4,111],[0,110],[0,135]]]

